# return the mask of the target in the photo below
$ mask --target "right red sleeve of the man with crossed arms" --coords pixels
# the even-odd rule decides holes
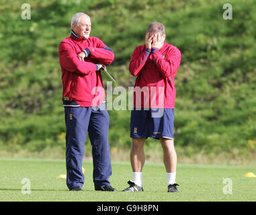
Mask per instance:
[[[95,47],[88,47],[83,51],[87,57],[91,56],[91,58],[97,59],[99,64],[110,65],[115,58],[113,50],[99,38],[95,38]]]

